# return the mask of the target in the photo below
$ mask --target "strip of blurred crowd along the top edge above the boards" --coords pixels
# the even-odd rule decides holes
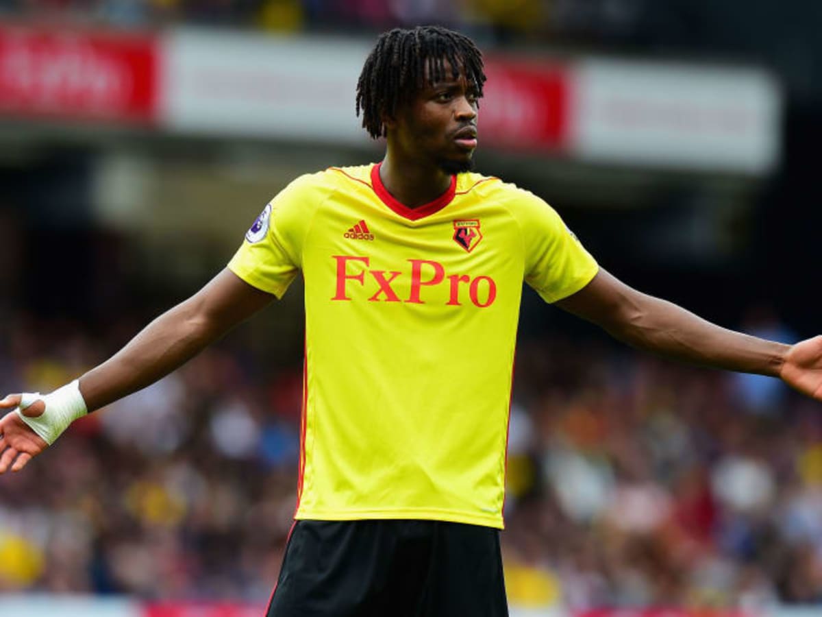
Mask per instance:
[[[627,34],[647,0],[0,0],[0,18],[141,28],[196,25],[277,32],[381,31],[438,23],[506,41]],[[517,38],[515,40],[521,40]]]

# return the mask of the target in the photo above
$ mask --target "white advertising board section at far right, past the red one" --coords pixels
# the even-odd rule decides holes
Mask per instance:
[[[765,72],[590,59],[571,75],[581,159],[743,174],[778,162],[781,95]]]

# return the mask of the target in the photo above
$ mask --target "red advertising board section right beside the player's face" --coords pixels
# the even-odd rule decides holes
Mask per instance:
[[[488,58],[480,139],[520,151],[562,150],[570,134],[569,68]]]

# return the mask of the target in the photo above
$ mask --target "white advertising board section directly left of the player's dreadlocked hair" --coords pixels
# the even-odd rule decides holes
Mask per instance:
[[[173,30],[163,47],[159,116],[164,128],[367,141],[354,115],[354,94],[368,44]]]

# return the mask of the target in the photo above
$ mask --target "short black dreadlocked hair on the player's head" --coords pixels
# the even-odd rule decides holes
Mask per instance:
[[[425,85],[464,75],[483,95],[486,77],[483,54],[467,36],[441,26],[395,28],[380,35],[368,54],[357,81],[357,115],[363,112],[363,128],[371,137],[386,137],[383,115],[393,116],[399,105]]]

